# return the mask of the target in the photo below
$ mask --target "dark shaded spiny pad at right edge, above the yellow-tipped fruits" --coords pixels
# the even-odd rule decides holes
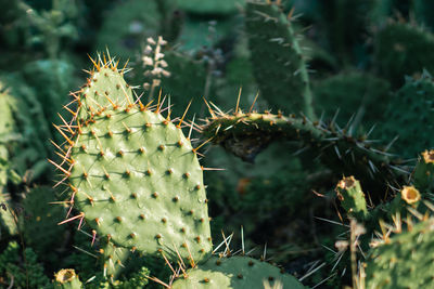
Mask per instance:
[[[408,79],[391,98],[385,119],[394,121],[384,122],[381,137],[394,140],[397,136],[392,148],[403,158],[416,158],[423,149],[434,146],[434,127],[430,121],[433,118],[433,96],[434,82],[425,71],[421,79]]]

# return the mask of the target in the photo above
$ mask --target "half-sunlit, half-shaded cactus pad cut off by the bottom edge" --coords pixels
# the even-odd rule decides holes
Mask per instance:
[[[278,267],[248,257],[212,258],[187,271],[187,277],[180,277],[171,288],[264,288],[264,283],[271,286],[281,284],[283,288],[305,288],[295,277],[281,273]]]

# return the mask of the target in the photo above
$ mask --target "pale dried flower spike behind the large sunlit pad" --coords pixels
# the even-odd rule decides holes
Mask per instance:
[[[167,41],[163,39],[163,37],[158,36],[157,41],[155,41],[152,37],[146,39],[146,47],[143,50],[143,67],[146,69],[144,71],[144,76],[150,78],[150,82],[144,82],[143,88],[149,93],[149,100],[153,98],[153,94],[155,88],[159,87],[162,82],[162,77],[169,77],[170,73],[165,68],[168,67],[167,63],[163,60],[164,54],[162,53],[162,47],[167,44]]]

